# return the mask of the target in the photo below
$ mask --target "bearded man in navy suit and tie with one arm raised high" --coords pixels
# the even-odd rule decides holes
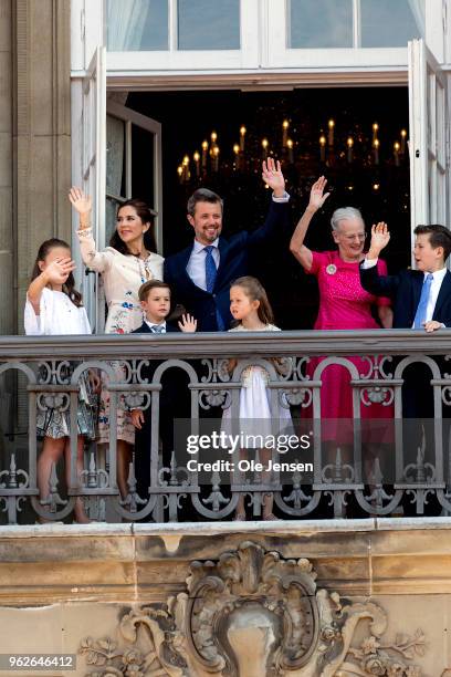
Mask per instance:
[[[243,230],[226,239],[222,235],[222,199],[200,188],[188,200],[188,222],[195,241],[187,249],[165,260],[165,282],[176,301],[198,321],[198,331],[229,329],[229,290],[233,280],[249,274],[249,252],[271,236],[286,230],[289,199],[281,165],[272,158],[263,163],[262,178],[273,189],[266,220],[254,232]]]

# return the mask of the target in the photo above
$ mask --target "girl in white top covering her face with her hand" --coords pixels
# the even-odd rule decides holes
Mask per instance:
[[[39,249],[32,280],[27,293],[24,326],[28,335],[91,334],[82,295],[74,289],[71,249],[66,242],[53,238]],[[49,479],[52,465],[64,455],[67,483],[71,478],[71,446],[69,412],[49,409],[39,412],[36,427],[44,436],[42,451],[38,459],[38,487],[41,500],[49,494]],[[76,468],[83,470],[84,436],[94,439],[95,408],[88,393],[87,378],[80,382],[78,446]],[[88,522],[83,503],[76,499],[74,508],[77,522]]]

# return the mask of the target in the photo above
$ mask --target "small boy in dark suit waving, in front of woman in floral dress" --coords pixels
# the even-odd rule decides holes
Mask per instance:
[[[191,315],[182,315],[178,324],[167,322],[170,312],[170,288],[160,280],[145,282],[138,292],[141,308],[145,312],[145,321],[135,330],[134,334],[166,334],[169,332],[196,332],[197,321]],[[159,360],[150,361],[148,367],[141,369],[141,375],[149,383],[156,368],[161,364]],[[174,448],[174,419],[189,417],[189,399],[183,398],[186,389],[186,377],[180,369],[170,368],[162,374],[162,389],[159,393],[159,436],[162,447],[162,464],[168,466],[170,452]],[[148,494],[150,485],[150,440],[151,440],[151,413],[150,407],[133,409],[132,421],[136,427],[135,438],[135,475],[137,492],[141,498]]]

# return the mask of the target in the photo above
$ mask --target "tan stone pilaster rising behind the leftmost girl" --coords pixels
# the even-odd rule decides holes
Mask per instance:
[[[40,243],[71,241],[71,2],[13,0],[14,187],[19,333]]]

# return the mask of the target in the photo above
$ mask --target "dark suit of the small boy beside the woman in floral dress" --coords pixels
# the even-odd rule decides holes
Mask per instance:
[[[179,332],[176,324],[166,322],[166,332]],[[133,334],[153,334],[146,322],[134,330]],[[161,334],[157,334],[161,336]],[[145,351],[143,351],[145,358]],[[143,367],[141,376],[151,383],[156,368],[161,364],[160,360],[151,360],[148,367]],[[170,452],[174,448],[174,418],[189,418],[189,395],[187,377],[180,369],[169,369],[161,376],[162,389],[159,393],[159,436],[162,447],[162,465],[169,466]],[[186,396],[183,396],[186,394]],[[140,430],[136,430],[135,437],[135,475],[137,491],[141,498],[148,497],[150,485],[150,407],[144,412],[144,424]],[[168,478],[166,478],[168,479]]]

